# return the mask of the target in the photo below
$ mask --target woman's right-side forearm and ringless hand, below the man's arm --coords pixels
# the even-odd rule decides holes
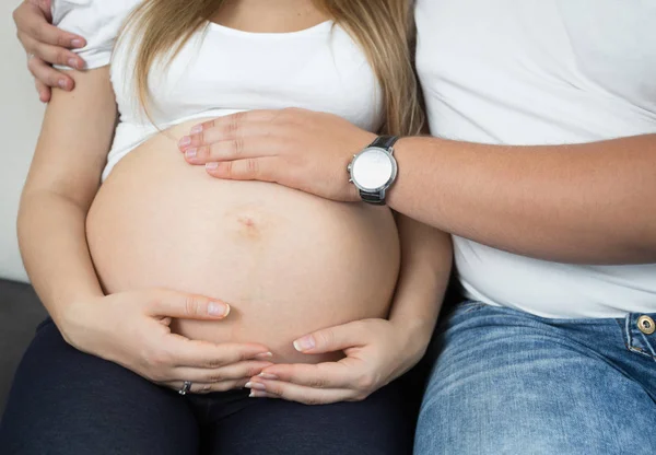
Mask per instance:
[[[361,400],[421,360],[450,276],[450,236],[403,215],[398,226],[402,262],[389,318],[358,320],[296,340],[304,353],[343,351],[347,357],[317,365],[269,366],[246,385],[253,397],[306,405]]]

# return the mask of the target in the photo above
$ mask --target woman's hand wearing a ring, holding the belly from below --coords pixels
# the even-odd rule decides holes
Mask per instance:
[[[173,318],[220,320],[230,306],[199,295],[154,289],[122,292],[72,305],[62,334],[77,349],[118,363],[147,380],[191,393],[244,387],[271,365],[269,350],[257,343],[197,341],[172,334]]]

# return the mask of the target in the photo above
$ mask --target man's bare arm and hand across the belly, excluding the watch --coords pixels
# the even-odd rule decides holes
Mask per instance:
[[[333,115],[251,110],[204,122],[180,147],[218,178],[276,182],[359,199],[345,168],[375,135]],[[539,259],[656,262],[656,135],[553,147],[406,138],[396,211],[442,231]]]

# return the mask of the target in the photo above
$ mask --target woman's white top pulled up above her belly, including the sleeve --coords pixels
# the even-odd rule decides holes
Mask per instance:
[[[332,21],[293,33],[248,33],[208,23],[173,60],[151,69],[153,124],[139,106],[133,78],[139,31],[121,32],[140,3],[52,0],[54,24],[87,40],[79,50],[87,68],[112,63],[120,121],[103,179],[153,135],[195,118],[302,107],[339,115],[370,131],[380,127],[376,75],[362,48]]]

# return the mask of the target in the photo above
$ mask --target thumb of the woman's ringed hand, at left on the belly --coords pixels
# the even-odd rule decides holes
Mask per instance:
[[[230,305],[203,295],[188,294],[166,289],[150,291],[148,311],[152,316],[179,319],[223,319]]]

